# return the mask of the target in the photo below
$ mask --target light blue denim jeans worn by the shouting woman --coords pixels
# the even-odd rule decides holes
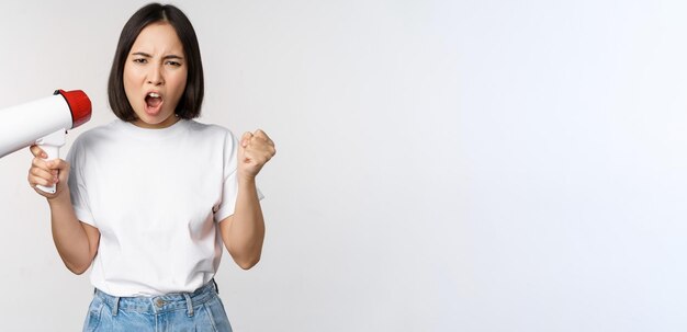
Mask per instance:
[[[214,281],[193,293],[114,297],[95,289],[83,332],[232,332]]]

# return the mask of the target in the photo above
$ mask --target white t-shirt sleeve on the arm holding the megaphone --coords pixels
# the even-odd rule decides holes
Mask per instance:
[[[88,225],[95,227],[95,220],[93,220],[93,214],[91,213],[88,190],[86,186],[86,179],[83,176],[85,167],[85,149],[82,140],[78,139],[69,149],[67,153],[67,162],[69,162],[69,192],[71,197],[71,205],[74,211],[77,215],[77,219]]]

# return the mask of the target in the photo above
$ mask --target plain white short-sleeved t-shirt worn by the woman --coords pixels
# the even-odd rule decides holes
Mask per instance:
[[[193,291],[222,256],[217,222],[234,214],[237,139],[181,119],[164,129],[122,121],[74,142],[77,218],[100,230],[91,283],[113,296]]]

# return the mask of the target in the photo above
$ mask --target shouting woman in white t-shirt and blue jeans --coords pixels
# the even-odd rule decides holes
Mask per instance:
[[[222,244],[243,268],[260,259],[256,175],[274,156],[261,130],[237,140],[192,121],[203,100],[198,38],[173,5],[125,24],[108,85],[117,121],[82,134],[67,160],[36,146],[29,183],[47,198],[67,268],[91,265],[85,331],[230,331],[213,277]]]

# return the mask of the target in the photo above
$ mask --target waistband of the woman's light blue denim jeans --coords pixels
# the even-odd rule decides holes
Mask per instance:
[[[193,316],[194,307],[201,306],[217,296],[217,284],[214,279],[193,293],[172,293],[153,297],[119,297],[95,289],[99,297],[116,316],[120,310],[139,313],[161,313],[187,310]]]

